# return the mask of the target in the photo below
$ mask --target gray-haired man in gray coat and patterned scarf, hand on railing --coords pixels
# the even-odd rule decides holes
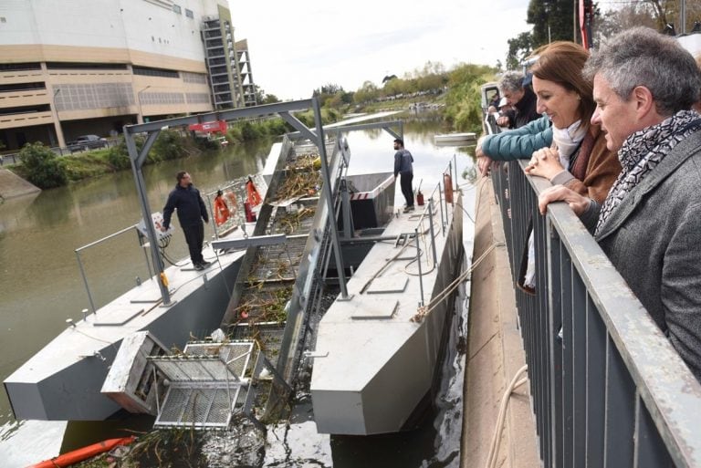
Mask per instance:
[[[623,172],[601,206],[555,186],[540,212],[569,203],[701,380],[701,117],[689,110],[701,74],[674,38],[645,27],[605,41],[583,73],[594,83],[591,123]]]

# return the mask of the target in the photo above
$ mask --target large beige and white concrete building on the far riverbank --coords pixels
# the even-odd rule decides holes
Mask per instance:
[[[3,0],[0,141],[65,146],[143,120],[255,105],[225,0]],[[236,47],[241,47],[237,50]]]

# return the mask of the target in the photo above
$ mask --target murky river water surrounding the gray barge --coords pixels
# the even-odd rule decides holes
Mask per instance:
[[[452,147],[434,145],[433,136],[440,132],[440,123],[436,120],[408,120],[404,124],[405,147],[412,151],[415,160],[414,186],[423,179],[424,193],[433,190],[441,171],[454,157],[459,172],[472,168],[472,160],[466,154]],[[388,133],[382,130],[356,131],[348,135],[348,140],[352,154],[350,174],[392,171],[392,137]],[[162,209],[168,192],[173,188],[176,172],[190,172],[195,186],[202,192],[210,192],[223,182],[262,170],[271,144],[272,141],[261,141],[235,145],[213,154],[146,167],[144,176],[152,211]],[[467,188],[470,185],[465,180],[460,180],[460,184]],[[470,192],[466,191],[465,206],[471,211],[474,203],[470,200],[474,200],[474,196],[471,197]],[[397,190],[395,204],[402,203],[401,193]],[[89,308],[75,249],[138,223],[140,213],[131,171],[73,183],[0,205],[0,379],[5,380],[66,328],[67,318],[78,320],[82,317],[81,309]],[[211,229],[211,224],[208,224],[206,236],[212,234]],[[173,259],[187,255],[182,235],[173,236],[168,255]],[[137,276],[146,278],[149,275],[136,234],[131,231],[82,253],[81,261],[96,307],[134,286]],[[458,318],[455,326],[461,327],[462,319],[459,315]],[[449,380],[458,379],[462,375],[460,356],[451,356],[449,360],[455,361],[451,365],[457,369],[457,374]],[[462,403],[455,403],[461,395],[453,394],[455,390],[462,391],[462,382],[458,383],[459,389],[455,386],[446,388],[445,398],[453,401],[452,410],[448,410],[448,418],[439,417],[436,425],[444,423],[444,419],[455,420],[462,414]],[[0,464],[20,467],[55,456],[66,425],[62,421],[15,421],[5,392],[0,391]],[[431,463],[430,466],[457,466],[457,460],[453,461],[455,455],[450,453],[459,448],[461,418],[450,425],[453,449],[439,457],[444,459],[443,462]],[[107,437],[109,434],[102,439]],[[415,434],[413,437],[425,439],[426,435]],[[90,442],[93,441],[86,443]],[[344,464],[333,463],[331,458],[336,461],[360,457],[358,451],[367,452],[361,448],[367,443],[373,442],[330,440],[326,455],[329,463],[319,462],[319,466]],[[404,438],[403,443],[405,449],[412,448],[409,452],[415,452],[416,446],[423,444],[426,447],[422,452],[433,454],[415,455],[418,464],[400,457],[397,460],[401,463],[382,466],[419,467],[424,465],[424,460],[435,459],[437,453],[447,450],[445,446],[433,446],[434,441],[413,441],[412,436]],[[385,441],[382,446],[404,452],[402,443],[392,445]],[[334,452],[332,457],[330,452]],[[356,466],[370,465],[361,463]]]

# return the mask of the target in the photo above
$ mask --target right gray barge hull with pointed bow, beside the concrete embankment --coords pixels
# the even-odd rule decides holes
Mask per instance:
[[[412,317],[422,286],[424,303],[429,304],[459,273],[464,253],[461,204],[458,198],[454,207],[448,205],[452,213],[445,235],[440,234],[440,218],[434,218],[438,262],[433,269],[426,265],[427,260],[433,263],[430,241],[421,243],[423,285],[415,262],[415,239],[405,247],[377,243],[349,281],[350,300],[337,299],[322,318],[311,377],[319,432],[402,431],[432,389],[453,301],[440,300],[420,322]],[[420,212],[392,220],[384,235],[413,233],[419,216],[414,213]],[[420,227],[428,231],[425,224]],[[382,274],[377,275],[380,270]]]

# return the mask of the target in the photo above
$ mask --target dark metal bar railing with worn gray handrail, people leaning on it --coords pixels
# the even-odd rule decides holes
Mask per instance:
[[[549,182],[524,166],[492,181],[514,282],[534,234],[516,300],[543,466],[701,467],[701,385],[570,209],[538,213]]]

